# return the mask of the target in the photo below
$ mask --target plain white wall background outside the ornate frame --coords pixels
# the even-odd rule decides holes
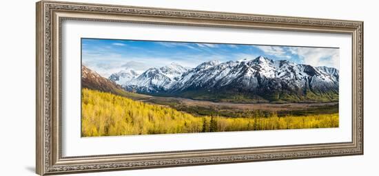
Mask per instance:
[[[67,1],[67,0],[66,0]],[[69,0],[76,1],[76,0]],[[376,1],[81,0],[158,8],[183,8],[365,21],[365,155],[116,171],[79,175],[378,175],[379,118]],[[4,1],[0,18],[0,175],[34,174],[35,1]]]

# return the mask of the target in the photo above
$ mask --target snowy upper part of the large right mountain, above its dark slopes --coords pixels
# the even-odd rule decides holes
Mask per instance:
[[[274,85],[269,86],[270,84]],[[338,88],[338,70],[298,65],[289,61],[272,61],[259,56],[254,60],[229,61],[204,69],[192,69],[173,85],[172,91],[228,87],[254,91],[258,87],[280,89],[283,86],[300,89],[306,85],[328,85],[327,88]]]

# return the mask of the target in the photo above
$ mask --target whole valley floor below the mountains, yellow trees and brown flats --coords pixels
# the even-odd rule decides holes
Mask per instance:
[[[82,89],[81,136],[338,127],[338,103],[230,104]]]

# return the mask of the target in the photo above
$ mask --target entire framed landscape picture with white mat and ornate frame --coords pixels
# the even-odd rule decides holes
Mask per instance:
[[[363,22],[40,1],[39,175],[363,154]]]

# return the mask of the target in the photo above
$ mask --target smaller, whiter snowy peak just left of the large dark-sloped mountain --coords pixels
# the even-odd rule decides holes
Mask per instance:
[[[122,86],[127,90],[134,89],[146,93],[167,91],[187,71],[188,68],[171,63],[164,67],[147,69],[143,74]]]

